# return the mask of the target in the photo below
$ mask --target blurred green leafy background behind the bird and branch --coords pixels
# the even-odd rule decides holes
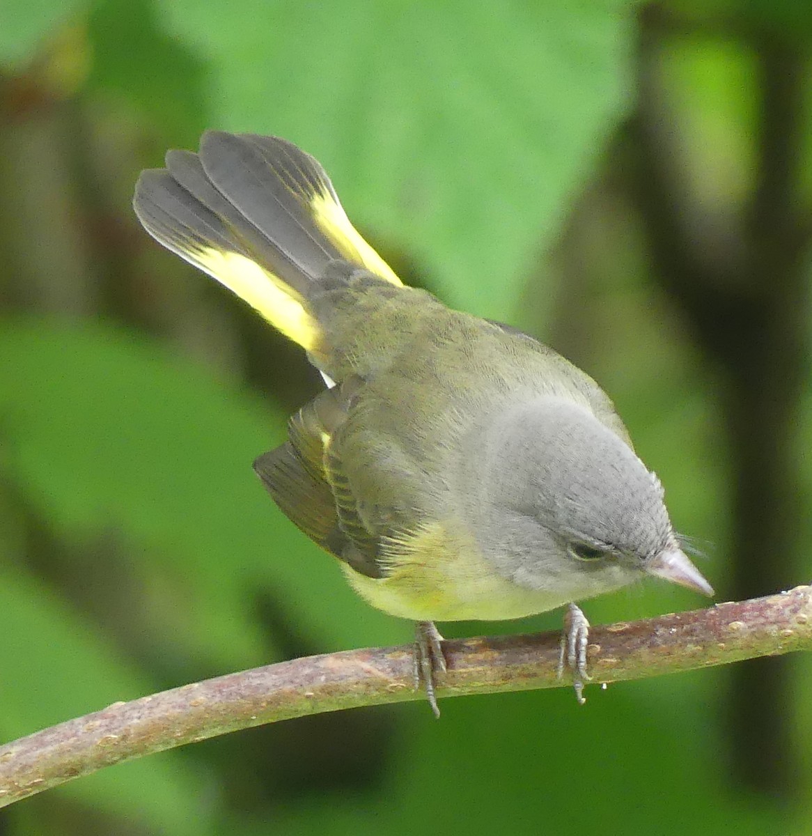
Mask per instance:
[[[411,636],[251,472],[317,375],[134,220],[207,127],[302,145],[404,279],[595,376],[719,599],[809,582],[810,44],[805,0],[2,0],[0,739]],[[0,834],[812,833],[810,694],[794,655],[305,718]]]

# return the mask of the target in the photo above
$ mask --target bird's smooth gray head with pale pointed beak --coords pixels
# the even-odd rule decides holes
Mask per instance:
[[[643,573],[713,594],[679,547],[662,485],[585,406],[543,398],[491,427],[491,513],[503,573],[577,600]],[[563,603],[563,601],[562,601]]]

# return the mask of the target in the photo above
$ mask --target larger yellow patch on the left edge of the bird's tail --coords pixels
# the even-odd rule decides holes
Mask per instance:
[[[307,351],[314,347],[318,334],[316,321],[276,276],[239,252],[203,247],[194,255],[200,268],[256,308],[274,328]]]

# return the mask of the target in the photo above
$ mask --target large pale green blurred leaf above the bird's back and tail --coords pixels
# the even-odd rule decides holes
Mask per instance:
[[[496,319],[629,98],[621,0],[159,8],[211,66],[213,126],[302,145],[374,242]]]

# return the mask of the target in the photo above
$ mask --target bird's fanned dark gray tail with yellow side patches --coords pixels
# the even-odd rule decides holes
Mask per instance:
[[[135,214],[156,241],[209,273],[305,349],[307,310],[327,263],[400,279],[349,222],[322,166],[273,136],[208,131],[200,151],[173,150],[142,172]]]

